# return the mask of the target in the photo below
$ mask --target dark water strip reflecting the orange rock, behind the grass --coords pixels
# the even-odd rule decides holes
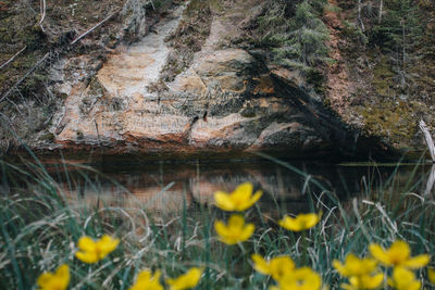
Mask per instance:
[[[347,200],[380,188],[401,190],[418,185],[413,192],[428,194],[435,174],[426,185],[428,166],[340,166],[319,163],[294,163],[298,174],[270,162],[213,163],[133,163],[94,164],[91,171],[69,166],[49,166],[72,205],[149,209],[179,213],[186,206],[195,211],[213,203],[216,190],[232,191],[245,181],[264,191],[259,205],[263,213],[308,211],[308,192],[321,196],[325,190]],[[75,169],[74,169],[75,168]],[[100,172],[96,174],[94,171]],[[413,182],[408,182],[410,178]],[[312,181],[316,180],[318,184]],[[430,182],[432,180],[432,185]],[[428,188],[431,187],[431,188]]]

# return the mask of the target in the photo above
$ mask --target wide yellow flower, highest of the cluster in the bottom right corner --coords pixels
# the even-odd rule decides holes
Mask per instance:
[[[409,244],[405,241],[394,242],[388,250],[384,250],[376,243],[371,244],[369,249],[373,257],[385,266],[401,266],[410,269],[418,269],[424,267],[430,261],[430,255],[427,254],[410,257],[411,250]]]

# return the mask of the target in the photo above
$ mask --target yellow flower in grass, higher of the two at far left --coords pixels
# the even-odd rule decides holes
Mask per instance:
[[[102,236],[102,238],[97,241],[85,236],[78,240],[77,245],[79,251],[75,253],[75,256],[85,263],[97,263],[115,250],[119,243],[119,239],[112,239],[112,237],[108,235]]]

